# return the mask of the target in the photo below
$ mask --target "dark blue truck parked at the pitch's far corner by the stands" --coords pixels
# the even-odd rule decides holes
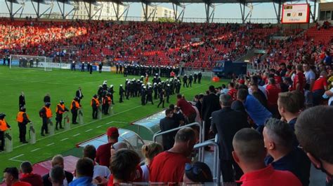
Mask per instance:
[[[247,62],[217,61],[213,72],[218,78],[246,75]]]

